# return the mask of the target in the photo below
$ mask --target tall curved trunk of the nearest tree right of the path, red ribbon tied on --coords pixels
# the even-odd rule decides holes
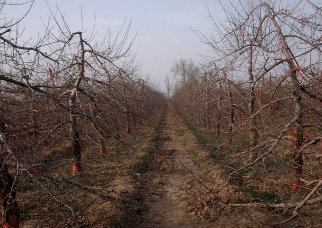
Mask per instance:
[[[287,45],[285,41],[285,37],[279,27],[279,24],[276,22],[274,15],[270,11],[270,7],[264,3],[266,10],[268,12],[268,16],[270,17],[271,21],[274,24],[274,27],[278,33],[279,41],[282,45],[282,50],[284,52],[284,55],[286,57],[285,62],[289,65],[289,76],[292,81],[292,100],[294,104],[294,137],[292,142],[292,149],[290,150],[292,153],[292,159],[293,159],[293,177],[295,178],[295,181],[292,185],[292,188],[298,188],[301,185],[300,178],[303,174],[303,155],[299,148],[302,146],[303,143],[303,106],[301,101],[301,94],[300,94],[300,86],[299,81],[297,78],[297,69],[294,64],[294,61],[292,59],[289,46]]]

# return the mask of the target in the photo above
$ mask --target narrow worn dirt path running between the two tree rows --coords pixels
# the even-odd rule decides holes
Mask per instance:
[[[198,175],[192,157],[196,144],[192,132],[172,108],[167,109],[158,149],[150,170],[144,174],[147,196],[143,204],[147,212],[142,216],[142,228],[195,228],[210,227],[207,220],[196,220],[196,215],[206,215],[207,208],[189,202],[187,189],[193,185],[191,175]],[[199,214],[198,214],[199,213]]]

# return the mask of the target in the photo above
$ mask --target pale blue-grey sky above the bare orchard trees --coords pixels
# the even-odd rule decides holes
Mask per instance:
[[[129,40],[137,33],[132,46],[137,55],[136,64],[141,66],[140,73],[150,76],[161,91],[165,91],[164,78],[171,75],[175,59],[192,58],[198,62],[202,61],[201,55],[209,54],[210,48],[191,31],[207,33],[211,29],[207,5],[214,16],[223,16],[213,0],[207,0],[207,5],[205,0],[47,0],[47,4],[45,0],[35,0],[21,22],[19,29],[24,29],[26,39],[42,34],[42,20],[48,21],[50,10],[55,12],[57,6],[72,32],[81,31],[83,26],[83,31],[87,30],[85,36],[89,37],[96,21],[95,39],[100,41],[109,26],[116,35],[124,20],[131,21]],[[6,7],[1,13],[7,18],[21,17],[27,6]]]

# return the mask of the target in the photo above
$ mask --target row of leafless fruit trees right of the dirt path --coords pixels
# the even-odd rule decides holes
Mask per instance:
[[[215,55],[192,75],[193,62],[175,62],[172,71],[182,78],[172,99],[185,118],[224,134],[235,158],[248,161],[228,181],[272,158],[284,165],[266,173],[271,185],[287,170],[292,189],[310,189],[301,203],[285,206],[294,208],[292,219],[321,199],[322,11],[311,1],[247,1],[222,9],[224,23],[210,15],[212,34],[195,31]]]

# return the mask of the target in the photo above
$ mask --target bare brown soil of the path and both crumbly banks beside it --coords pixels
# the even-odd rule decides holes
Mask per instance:
[[[97,178],[109,176],[108,186],[117,192],[111,193],[112,196],[135,200],[140,205],[80,193],[79,201],[75,202],[80,208],[78,227],[262,228],[272,227],[267,223],[285,219],[260,208],[222,206],[251,202],[252,196],[238,183],[226,185],[227,170],[214,162],[213,152],[205,149],[172,107],[164,108],[157,119],[156,126],[150,129],[150,137],[131,159],[121,166],[95,168],[92,178],[82,179],[82,175],[90,177],[90,173],[83,173],[79,178],[95,186],[107,180]],[[39,194],[37,197],[38,206],[41,198]],[[30,198],[26,205],[35,202],[36,196]],[[77,227],[70,222],[71,218],[65,218],[69,214],[66,209],[57,213],[57,204],[47,209],[46,205],[25,213],[21,227]],[[35,213],[45,215],[38,220],[39,216],[32,216]],[[303,224],[291,221],[281,227],[303,227]]]

